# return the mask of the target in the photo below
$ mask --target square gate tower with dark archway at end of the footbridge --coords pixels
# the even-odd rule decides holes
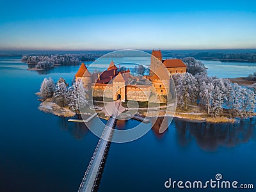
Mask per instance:
[[[126,99],[126,84],[127,84],[127,77],[125,74],[121,74],[120,72],[118,75],[113,79],[113,100]]]

